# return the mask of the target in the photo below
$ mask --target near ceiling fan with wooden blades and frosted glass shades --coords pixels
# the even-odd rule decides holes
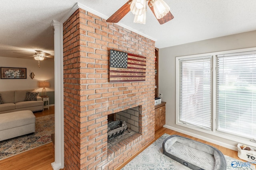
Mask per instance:
[[[106,21],[117,23],[131,11],[135,15],[134,22],[145,24],[146,1],[148,1],[148,7],[160,24],[166,23],[174,18],[170,12],[170,7],[163,0],[128,0],[126,4],[119,8]]]

